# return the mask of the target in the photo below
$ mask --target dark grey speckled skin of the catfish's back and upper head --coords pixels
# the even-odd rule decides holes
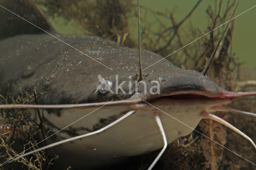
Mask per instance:
[[[100,84],[98,74],[105,80],[113,82],[115,92],[115,75],[118,75],[118,84],[123,80],[127,83],[122,86],[128,93],[128,76],[133,83],[138,79],[138,51],[135,49],[117,46],[116,43],[93,36],[58,36],[74,48],[88,54],[112,70],[95,62],[88,56],[67,46],[63,42],[48,35],[21,35],[2,40],[0,42],[0,94],[7,90],[7,83],[12,86],[10,91],[17,95],[19,88],[26,89],[36,86],[37,92],[43,93],[39,104],[74,104],[123,100],[132,94],[94,94]],[[162,59],[161,56],[149,51],[142,51],[142,68]],[[14,69],[15,68],[15,69]],[[159,69],[160,68],[160,69]],[[18,70],[18,71],[17,71]],[[148,75],[145,81],[158,80],[161,76],[160,95],[147,94],[145,99],[159,96],[168,96],[174,92],[204,92],[214,96],[223,91],[209,78],[195,71],[187,71],[174,66],[164,60],[144,71]],[[204,79],[202,81],[202,78]],[[175,87],[175,88],[174,88]],[[143,87],[139,88],[143,90]]]

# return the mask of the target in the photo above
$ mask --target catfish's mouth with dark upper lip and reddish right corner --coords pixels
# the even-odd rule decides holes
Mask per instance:
[[[195,78],[197,77],[197,78]],[[230,92],[216,85],[208,77],[196,72],[189,75],[175,76],[160,86],[160,93],[148,96],[152,99],[168,100],[222,100],[224,104],[247,96],[256,96],[256,92]]]

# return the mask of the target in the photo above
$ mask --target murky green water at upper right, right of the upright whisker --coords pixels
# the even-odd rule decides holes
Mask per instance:
[[[204,29],[207,24],[206,18],[206,8],[209,6],[209,2],[214,4],[214,1],[204,0],[197,10],[192,14],[192,17],[187,21],[187,23],[192,22],[194,26]],[[161,2],[156,2],[155,0],[142,0],[141,4],[148,6],[157,11],[165,12],[166,9],[174,11],[177,20],[184,18],[184,16],[191,10],[192,6],[196,1],[189,0],[162,0]],[[240,1],[236,13],[234,16],[241,14],[242,12],[250,9],[256,5],[255,0]],[[222,12],[226,4],[222,6]],[[248,12],[238,16],[234,20],[234,33],[232,41],[232,50],[236,53],[236,56],[240,58],[241,62],[244,62],[242,66],[250,66],[256,68],[256,54],[255,54],[255,38],[256,34],[256,8],[252,8]],[[189,27],[189,25],[186,25]]]

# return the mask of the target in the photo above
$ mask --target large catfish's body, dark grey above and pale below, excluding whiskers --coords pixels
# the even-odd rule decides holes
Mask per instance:
[[[18,96],[20,89],[26,90],[35,86],[40,94],[38,104],[118,101],[127,100],[135,94],[134,84],[138,79],[137,73],[139,73],[137,50],[118,46],[115,42],[93,36],[53,35],[91,58],[49,34],[25,34],[6,38],[0,42],[0,94],[4,95],[9,90],[14,96]],[[157,54],[142,51],[142,68],[147,68],[161,59],[162,57]],[[100,84],[98,74],[113,83],[114,94],[110,92],[107,94],[95,93]],[[61,166],[90,165],[98,167],[98,162],[106,164],[116,161],[116,158],[154,151],[162,147],[161,136],[153,119],[156,114],[162,119],[166,137],[170,143],[177,137],[192,132],[202,119],[200,112],[211,111],[209,109],[211,106],[226,104],[230,101],[207,98],[218,97],[218,94],[225,90],[216,86],[208,77],[195,71],[177,68],[168,60],[154,64],[145,70],[144,74],[144,81],[147,85],[152,81],[160,83],[160,94],[142,94],[143,87],[140,86],[139,95],[144,95],[145,100],[155,104],[173,117],[179,118],[191,128],[170,119],[150,106],[142,105],[140,107],[131,102],[126,106],[101,108],[88,115],[84,120],[62,130],[56,134],[55,138],[49,138],[49,141],[55,142],[93,132],[130,110],[136,110],[136,113],[100,135],[54,148],[55,153],[60,154]],[[118,75],[118,81],[116,75]],[[126,83],[121,87],[126,93],[116,88],[123,81]],[[129,81],[132,86],[131,93],[129,93]],[[12,85],[9,88],[7,84],[10,82]],[[204,98],[182,100],[179,98],[166,100],[164,98],[170,94],[179,95],[193,92],[200,92],[199,94],[205,96]],[[156,98],[158,99],[155,100]],[[57,132],[96,109],[94,107],[46,109],[44,110],[45,128],[50,133]]]

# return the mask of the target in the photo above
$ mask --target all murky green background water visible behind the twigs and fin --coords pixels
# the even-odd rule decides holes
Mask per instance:
[[[156,23],[156,18],[150,12],[145,12],[144,7],[150,8],[155,12],[162,12],[163,14],[168,14],[169,12],[174,12],[174,18],[176,22],[179,22],[182,18],[184,18],[191,8],[196,4],[197,1],[188,1],[188,0],[141,0],[141,12],[143,15],[147,15],[146,20],[142,19],[141,25],[142,28],[146,26],[146,24],[152,29],[157,30],[159,26]],[[194,11],[192,16],[183,24],[182,29],[188,30],[190,28],[190,24],[194,27],[199,28],[202,31],[206,32],[206,26],[208,24],[208,18],[206,14],[206,9],[209,6],[209,3],[214,6],[214,1],[204,0],[200,3],[198,8]],[[134,0],[134,4],[136,4],[136,0]],[[216,4],[218,6],[218,4]],[[235,16],[241,14],[242,12],[248,10],[249,8],[255,5],[254,0],[246,0],[241,1],[236,10]],[[134,8],[136,9],[136,8]],[[223,13],[226,9],[226,2],[222,5],[221,12]],[[134,11],[135,12],[135,11]],[[236,56],[240,58],[240,61],[243,63],[243,67],[253,67],[256,68],[256,55],[254,52],[255,49],[255,28],[256,28],[256,8],[245,12],[241,16],[238,16],[234,20],[234,32],[232,36],[232,51]],[[229,18],[229,17],[228,17]],[[168,26],[170,24],[169,19],[160,18],[163,23]],[[56,17],[51,20],[54,27],[58,30],[58,32],[63,34],[84,34],[84,30],[81,27],[78,20],[67,21],[62,17]],[[226,21],[224,21],[226,22]],[[129,29],[130,37],[134,40],[137,39],[137,21],[136,18],[131,18],[129,21]],[[219,26],[219,25],[218,25]],[[202,39],[200,39],[202,40]],[[200,41],[198,40],[198,41]],[[184,41],[186,42],[186,40]],[[188,40],[186,43],[191,42]]]

